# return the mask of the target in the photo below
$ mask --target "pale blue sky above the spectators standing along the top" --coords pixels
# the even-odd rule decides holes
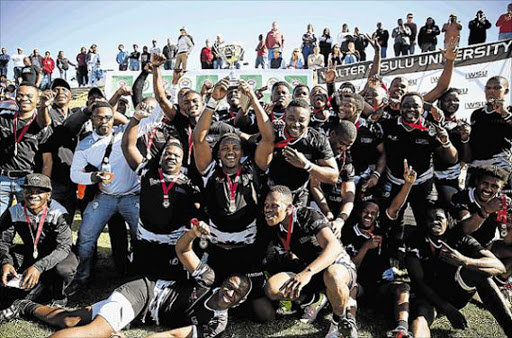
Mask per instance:
[[[102,68],[117,69],[115,55],[119,43],[128,51],[134,43],[151,47],[156,39],[163,48],[167,38],[173,42],[179,29],[186,26],[196,46],[189,58],[189,68],[200,68],[199,53],[204,41],[214,41],[220,33],[226,43],[241,44],[245,61],[254,67],[254,48],[259,34],[266,34],[273,21],[285,35],[284,57],[300,47],[302,34],[311,23],[320,36],[324,28],[336,36],[341,25],[350,31],[359,27],[372,33],[376,23],[391,30],[398,18],[414,14],[421,27],[431,16],[441,28],[451,13],[457,14],[464,28],[461,46],[467,45],[468,22],[482,9],[493,27],[487,41],[498,38],[495,27],[499,15],[506,12],[509,1],[23,1],[0,0],[0,46],[8,53],[22,47],[26,54],[38,48],[56,57],[59,50],[74,60],[80,47],[95,43],[102,59]],[[391,42],[391,39],[390,39]],[[392,45],[392,43],[391,43]],[[390,45],[390,46],[391,46]],[[438,44],[438,47],[441,44]],[[390,50],[388,56],[392,54]],[[373,56],[371,47],[368,57]],[[9,67],[12,68],[12,67]],[[12,69],[9,69],[10,75]]]

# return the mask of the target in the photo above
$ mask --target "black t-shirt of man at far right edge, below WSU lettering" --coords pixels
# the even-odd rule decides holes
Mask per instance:
[[[487,113],[486,108],[475,110],[471,114],[471,156],[474,160],[488,160],[506,152],[512,156],[512,126],[495,111]],[[507,110],[512,112],[512,106]],[[509,160],[510,161],[510,160]]]

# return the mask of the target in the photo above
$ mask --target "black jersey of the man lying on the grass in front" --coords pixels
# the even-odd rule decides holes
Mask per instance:
[[[211,309],[207,302],[218,291],[212,290],[214,271],[201,264],[192,273],[194,282],[177,282],[161,300],[158,319],[171,329],[193,325],[197,336],[213,338],[226,329],[228,310]]]

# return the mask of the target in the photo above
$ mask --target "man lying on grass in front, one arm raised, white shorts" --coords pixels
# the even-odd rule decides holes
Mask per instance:
[[[53,338],[107,338],[138,317],[172,328],[151,335],[153,338],[215,337],[226,328],[228,309],[249,294],[251,282],[244,275],[234,275],[220,288],[211,288],[215,273],[192,250],[194,240],[209,233],[208,225],[200,222],[176,244],[178,258],[194,278],[193,283],[139,278],[121,285],[106,300],[71,311],[17,300],[0,312],[0,323],[23,316],[61,328]]]

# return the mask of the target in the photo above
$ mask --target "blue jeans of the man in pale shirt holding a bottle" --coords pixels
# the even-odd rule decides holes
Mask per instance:
[[[139,195],[112,196],[100,193],[87,205],[78,231],[78,282],[87,283],[96,242],[108,220],[117,212],[130,226],[130,236],[135,240],[139,220]]]

